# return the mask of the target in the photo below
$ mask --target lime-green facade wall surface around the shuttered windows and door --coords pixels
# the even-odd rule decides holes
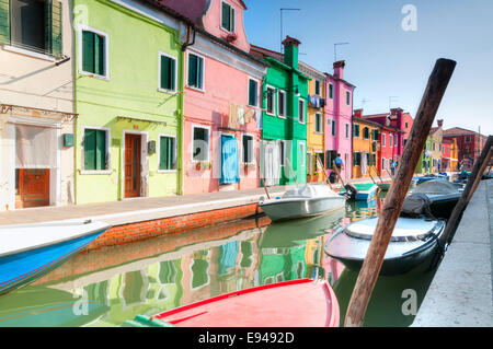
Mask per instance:
[[[125,132],[137,132],[157,150],[144,159],[140,196],[181,194],[181,120],[183,118],[183,54],[176,31],[110,1],[76,0],[76,202],[115,201],[124,198]],[[107,78],[80,71],[80,27],[107,35]],[[176,59],[177,93],[159,91],[160,53]],[[83,165],[83,128],[111,132],[106,171],[87,172]],[[176,171],[159,171],[159,137],[176,137]]]

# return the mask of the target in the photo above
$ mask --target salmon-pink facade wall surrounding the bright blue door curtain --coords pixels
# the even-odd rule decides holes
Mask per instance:
[[[193,50],[188,50],[193,51]],[[188,59],[185,60],[187,70]],[[226,80],[225,77],[228,77]],[[254,138],[255,159],[260,156],[261,131],[256,129],[256,120],[240,125],[237,129],[228,130],[230,103],[243,106],[246,110],[249,75],[238,69],[222,63],[210,57],[205,57],[204,91],[192,89],[185,84],[184,103],[184,194],[211,193],[220,189],[220,135],[233,135],[240,151],[240,183],[232,185],[237,189],[255,188],[259,186],[259,168],[242,164],[242,135]],[[259,82],[259,95],[261,93]],[[209,162],[211,168],[196,168],[193,161],[193,126],[204,126],[210,129]],[[242,132],[244,131],[244,132]]]

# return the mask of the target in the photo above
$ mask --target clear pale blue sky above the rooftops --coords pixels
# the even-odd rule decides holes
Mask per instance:
[[[402,107],[414,117],[438,58],[457,67],[435,118],[444,128],[493,135],[493,0],[245,0],[251,44],[280,49],[283,34],[301,42],[300,59],[332,72],[346,61],[345,80],[356,85],[354,107],[365,114]],[[404,31],[406,4],[416,9],[416,31]],[[435,124],[436,125],[436,121]]]

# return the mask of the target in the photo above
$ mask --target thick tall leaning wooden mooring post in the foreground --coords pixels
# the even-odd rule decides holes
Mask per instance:
[[[386,197],[382,212],[371,239],[365,261],[359,271],[356,284],[347,306],[344,325],[346,327],[363,326],[369,299],[380,274],[383,256],[392,236],[395,222],[401,213],[405,195],[420,161],[426,138],[435,119],[438,106],[450,81],[456,62],[438,59],[429,77],[420,107],[416,113],[410,138],[397,168],[394,183]]]

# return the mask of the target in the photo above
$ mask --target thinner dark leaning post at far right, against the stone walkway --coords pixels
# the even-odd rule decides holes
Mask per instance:
[[[482,171],[484,172],[485,166],[490,162],[490,159],[492,156],[492,147],[493,147],[493,136],[489,136],[486,140],[486,144],[484,144],[484,148],[481,152],[481,155],[478,158],[478,160],[474,162],[474,166],[472,167],[471,175],[468,178],[468,184],[466,185],[466,189],[463,190],[459,201],[457,201],[456,206],[454,207],[454,210],[450,214],[450,218],[448,219],[447,226],[445,226],[444,234],[440,236],[440,243],[445,244],[447,243],[448,239],[450,237],[451,232],[454,231],[454,228],[457,224],[457,220],[459,219],[460,214],[463,212],[466,206],[469,203],[469,200],[472,197],[472,194],[474,194],[475,188],[478,187],[479,182],[481,181],[481,176],[483,175]],[[438,261],[439,256],[435,258],[434,265]]]

